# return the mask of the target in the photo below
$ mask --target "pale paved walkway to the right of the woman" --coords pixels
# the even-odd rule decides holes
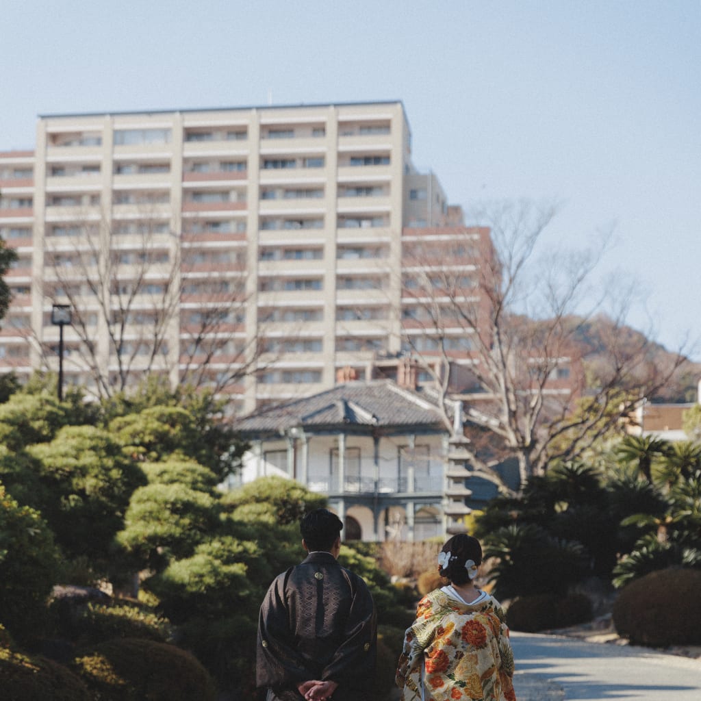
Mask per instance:
[[[701,701],[701,660],[512,632],[518,701]]]

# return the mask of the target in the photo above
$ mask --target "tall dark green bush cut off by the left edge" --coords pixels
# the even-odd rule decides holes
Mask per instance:
[[[0,620],[17,638],[41,627],[60,562],[52,533],[34,509],[0,484]]]

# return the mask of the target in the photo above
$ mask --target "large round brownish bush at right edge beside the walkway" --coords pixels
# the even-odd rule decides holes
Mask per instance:
[[[701,570],[670,568],[632,581],[613,604],[613,625],[634,645],[700,645]]]

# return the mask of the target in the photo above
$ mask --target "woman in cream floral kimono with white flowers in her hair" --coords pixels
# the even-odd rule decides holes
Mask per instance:
[[[419,601],[407,629],[396,679],[402,701],[516,701],[503,609],[472,584],[482,564],[479,541],[453,536],[438,564],[450,585]]]

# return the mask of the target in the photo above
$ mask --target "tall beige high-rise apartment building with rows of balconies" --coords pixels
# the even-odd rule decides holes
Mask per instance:
[[[425,333],[407,245],[488,237],[412,165],[401,102],[41,116],[33,152],[0,153],[0,193],[19,254],[0,371],[57,367],[63,304],[67,383],[160,372],[238,411],[395,358]]]

